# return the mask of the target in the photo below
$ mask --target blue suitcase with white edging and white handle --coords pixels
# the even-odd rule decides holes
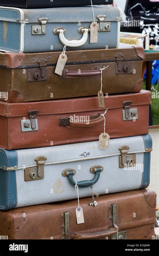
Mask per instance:
[[[0,7],[0,51],[50,52],[116,48],[119,45],[121,10],[95,5],[98,43],[90,43],[92,6],[44,9]],[[73,48],[72,48],[73,47]]]

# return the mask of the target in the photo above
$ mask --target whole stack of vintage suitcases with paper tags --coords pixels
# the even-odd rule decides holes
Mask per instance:
[[[0,235],[152,239],[144,49],[117,7],[26,2],[0,1]]]

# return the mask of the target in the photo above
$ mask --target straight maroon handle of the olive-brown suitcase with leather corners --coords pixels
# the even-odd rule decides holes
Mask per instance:
[[[65,78],[101,76],[101,71],[85,70],[85,71],[78,72],[78,71],[63,70],[62,76],[64,76]]]

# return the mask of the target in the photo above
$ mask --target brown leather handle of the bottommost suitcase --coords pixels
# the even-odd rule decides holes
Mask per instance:
[[[85,240],[85,239],[106,239],[112,235],[117,235],[117,229],[110,229],[107,231],[101,231],[97,233],[88,233],[88,234],[75,234],[73,237],[74,240]]]

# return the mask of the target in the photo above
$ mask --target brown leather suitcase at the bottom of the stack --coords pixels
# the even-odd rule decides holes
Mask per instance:
[[[76,220],[77,200],[0,211],[0,235],[8,239],[153,238],[156,193],[152,190],[99,196],[96,207],[89,205],[92,200],[80,199],[82,224]]]

